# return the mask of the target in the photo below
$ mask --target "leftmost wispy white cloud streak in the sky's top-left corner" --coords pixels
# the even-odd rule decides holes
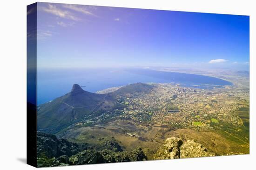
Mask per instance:
[[[48,7],[42,7],[42,10],[47,13],[51,13],[53,15],[61,17],[61,18],[71,19],[74,21],[81,20],[80,18],[76,17],[73,13],[70,13],[69,11],[62,10],[60,8],[57,8],[55,5],[48,4]]]

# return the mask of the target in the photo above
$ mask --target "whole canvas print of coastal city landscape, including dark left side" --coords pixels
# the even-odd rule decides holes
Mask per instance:
[[[27,48],[34,166],[249,154],[249,16],[35,3]]]

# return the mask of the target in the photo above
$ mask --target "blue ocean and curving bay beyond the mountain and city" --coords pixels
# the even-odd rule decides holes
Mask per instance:
[[[136,82],[179,83],[194,88],[221,88],[231,82],[210,76],[151,69],[38,69],[37,104],[52,101],[79,84],[86,91],[124,86]]]

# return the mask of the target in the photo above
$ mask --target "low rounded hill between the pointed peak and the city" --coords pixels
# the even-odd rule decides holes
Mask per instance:
[[[153,86],[145,84],[145,83],[135,83],[135,84],[129,84],[127,86],[123,86],[119,88],[118,90],[112,92],[114,96],[116,95],[122,95],[122,94],[133,94],[138,92],[149,92],[153,89]]]

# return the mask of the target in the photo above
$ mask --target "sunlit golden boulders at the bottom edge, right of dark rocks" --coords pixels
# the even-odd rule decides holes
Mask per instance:
[[[163,146],[156,152],[154,159],[177,159],[188,157],[211,157],[214,153],[207,151],[201,144],[194,140],[182,141],[180,138],[171,137],[165,140]]]

